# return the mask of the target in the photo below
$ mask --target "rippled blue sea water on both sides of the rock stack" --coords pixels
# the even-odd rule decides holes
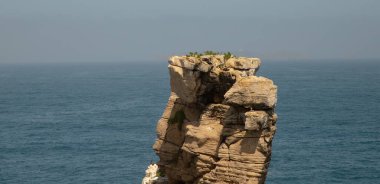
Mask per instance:
[[[380,61],[273,61],[268,184],[380,183]],[[140,183],[165,62],[0,65],[0,183]]]

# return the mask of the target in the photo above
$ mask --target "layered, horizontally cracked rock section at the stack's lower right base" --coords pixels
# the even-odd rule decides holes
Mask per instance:
[[[268,157],[257,151],[260,138],[244,138],[219,147],[216,168],[205,174],[200,183],[263,183]]]

